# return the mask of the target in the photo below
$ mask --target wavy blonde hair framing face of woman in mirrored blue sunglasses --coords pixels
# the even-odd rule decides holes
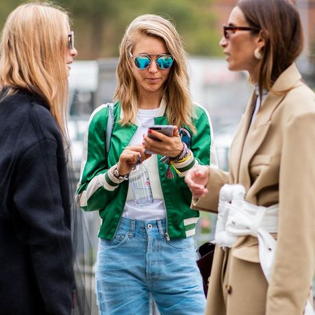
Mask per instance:
[[[168,104],[166,117],[172,125],[182,127],[185,124],[192,131],[195,131],[192,125],[194,114],[190,98],[186,51],[184,51],[179,34],[171,21],[155,14],[144,14],[135,18],[127,27],[119,47],[120,53],[116,71],[118,85],[114,99],[121,102],[123,109],[124,116],[120,123],[127,125],[136,120],[140,92],[131,70],[131,62],[133,61],[129,51],[132,51],[139,34],[160,38],[166,45],[167,53],[173,55],[174,63],[164,86],[164,97]]]

